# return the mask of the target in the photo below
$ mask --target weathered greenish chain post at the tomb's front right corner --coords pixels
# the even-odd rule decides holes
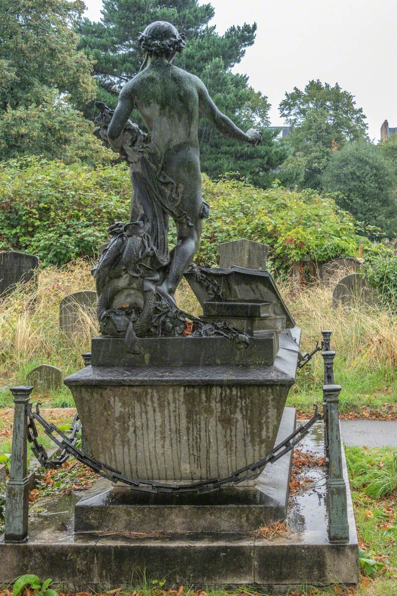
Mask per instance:
[[[327,479],[328,497],[328,532],[330,541],[349,539],[348,506],[346,483],[343,478],[342,437],[339,425],[340,385],[324,385],[323,395],[326,403],[329,477]]]

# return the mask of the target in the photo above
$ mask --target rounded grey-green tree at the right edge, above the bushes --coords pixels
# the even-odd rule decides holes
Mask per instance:
[[[323,175],[323,187],[337,192],[337,204],[364,224],[379,226],[387,236],[397,235],[395,166],[370,142],[345,144],[332,154]]]

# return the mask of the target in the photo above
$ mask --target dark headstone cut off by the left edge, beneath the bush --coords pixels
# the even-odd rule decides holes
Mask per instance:
[[[36,275],[39,259],[33,254],[14,250],[0,252],[0,295],[12,291],[18,283],[27,283]]]

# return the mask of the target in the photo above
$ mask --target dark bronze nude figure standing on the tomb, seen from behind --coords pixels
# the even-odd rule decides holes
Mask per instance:
[[[152,147],[157,151],[159,167],[157,175],[151,176],[151,184],[147,181],[148,173],[143,171],[145,168],[140,166],[134,171],[132,167],[131,221],[139,215],[139,193],[142,196],[146,192],[154,197],[158,195],[165,218],[164,234],[168,228],[168,216],[176,223],[177,244],[169,257],[167,254],[166,261],[159,259],[164,274],[156,287],[170,305],[175,304],[176,287],[198,249],[202,219],[208,216],[208,206],[201,196],[199,113],[230,138],[250,145],[257,145],[262,138],[260,131],[240,130],[218,110],[198,77],[173,66],[174,56],[186,45],[184,39],[171,23],[165,21],[151,23],[140,33],[139,42],[144,52],[140,72],[121,89],[117,108],[107,129],[111,147],[121,151],[124,127],[136,107],[149,131]],[[167,193],[164,193],[164,185],[168,185]],[[154,201],[152,197],[153,204]],[[152,215],[146,213],[146,218],[155,217],[155,208],[155,205],[152,206]],[[160,241],[161,238],[158,239]]]

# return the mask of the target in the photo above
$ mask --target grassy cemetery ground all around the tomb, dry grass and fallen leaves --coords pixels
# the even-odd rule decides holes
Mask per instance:
[[[81,354],[89,350],[90,336],[96,334],[95,313],[82,312],[84,331],[71,340],[59,329],[59,305],[64,296],[77,290],[93,289],[90,263],[82,260],[58,270],[40,271],[37,290],[15,290],[7,296],[0,312],[0,454],[9,454],[12,438],[12,398],[7,387],[26,383],[26,375],[39,364],[52,364],[62,374],[83,366]],[[333,330],[336,350],[335,381],[342,385],[340,409],[349,418],[397,419],[397,329],[395,315],[376,306],[353,306],[348,311],[332,309],[332,293],[320,285],[296,291],[279,283],[283,297],[302,327],[302,351],[310,352],[324,328]],[[188,312],[199,314],[195,298],[182,284],[178,300]],[[314,402],[321,403],[323,362],[315,356],[298,374],[287,405],[295,406],[301,417],[308,417]],[[57,424],[70,422],[74,403],[66,387],[48,393],[34,393],[32,402],[42,403],[45,418]],[[49,439],[42,437],[50,446]],[[355,516],[362,548],[362,576],[357,591],[335,586],[332,589],[302,586],[290,594],[358,594],[362,596],[397,595],[397,480],[393,449],[346,448]],[[6,458],[2,458],[6,461]],[[7,462],[6,462],[7,463]],[[39,475],[31,493],[32,505],[46,494],[79,491],[93,482],[93,474],[76,461],[60,471]],[[0,524],[4,511],[4,487],[0,489]],[[277,540],[277,533],[274,536]],[[370,561],[365,563],[364,559]],[[34,573],[35,570],[26,570]],[[45,580],[46,578],[41,578]],[[164,578],[142,578],[142,588],[134,596],[166,596]],[[152,583],[155,582],[155,583]],[[224,591],[195,592],[188,583],[171,596],[223,596]],[[54,586],[56,588],[56,586]],[[178,589],[179,588],[179,589]],[[123,591],[131,592],[128,586]],[[123,594],[120,591],[120,596]],[[254,594],[243,586],[235,594]],[[0,592],[2,594],[2,592]],[[7,591],[4,594],[8,594]],[[32,591],[26,592],[30,596]],[[115,592],[111,592],[114,596]]]

